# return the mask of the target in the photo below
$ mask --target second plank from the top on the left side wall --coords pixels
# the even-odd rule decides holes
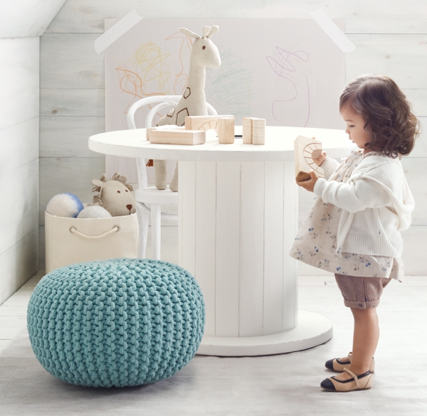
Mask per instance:
[[[38,88],[0,98],[0,130],[38,117]]]

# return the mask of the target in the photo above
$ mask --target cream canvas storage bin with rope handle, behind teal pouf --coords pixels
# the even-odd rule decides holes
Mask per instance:
[[[45,211],[46,274],[73,263],[137,257],[137,214],[65,218]]]

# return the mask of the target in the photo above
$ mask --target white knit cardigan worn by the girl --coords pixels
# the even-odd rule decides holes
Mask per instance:
[[[338,162],[327,157],[322,163],[330,178]],[[401,257],[401,230],[411,225],[415,206],[399,159],[377,153],[367,155],[349,181],[319,178],[314,193],[326,203],[342,208],[337,230],[337,254]]]

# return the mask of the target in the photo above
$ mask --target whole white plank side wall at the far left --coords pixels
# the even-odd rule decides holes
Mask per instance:
[[[38,272],[39,38],[0,38],[0,304]]]

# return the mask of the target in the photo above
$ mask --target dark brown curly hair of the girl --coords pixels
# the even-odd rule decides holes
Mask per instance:
[[[344,105],[364,119],[364,129],[371,133],[365,147],[393,159],[411,153],[419,134],[419,122],[394,80],[385,75],[362,75],[342,92],[340,111]]]

